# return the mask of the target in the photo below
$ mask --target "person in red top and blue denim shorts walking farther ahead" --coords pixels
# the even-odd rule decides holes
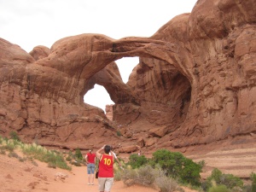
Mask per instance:
[[[96,154],[92,153],[92,149],[85,155],[85,160],[87,163],[88,184],[94,185]]]

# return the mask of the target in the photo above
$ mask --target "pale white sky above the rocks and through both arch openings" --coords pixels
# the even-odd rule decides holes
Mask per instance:
[[[197,0],[0,0],[0,38],[26,52],[51,47],[57,40],[82,33],[110,38],[150,37],[173,17],[190,13]],[[126,83],[137,57],[116,61]],[[95,85],[84,102],[105,110],[113,104],[107,90]]]

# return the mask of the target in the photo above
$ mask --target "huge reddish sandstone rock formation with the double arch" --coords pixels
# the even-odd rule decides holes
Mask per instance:
[[[254,144],[254,3],[199,0],[150,38],[81,34],[30,54],[1,39],[0,133],[63,148]],[[114,61],[131,56],[140,62],[124,84]],[[115,103],[113,122],[84,103],[94,84]]]

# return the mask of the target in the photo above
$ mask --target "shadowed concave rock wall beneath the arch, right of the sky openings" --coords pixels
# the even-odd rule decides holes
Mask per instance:
[[[132,95],[139,101],[119,102],[113,107],[113,120],[119,125],[131,125],[146,119],[150,127],[171,127],[174,131],[186,119],[191,99],[189,79],[177,67],[153,57],[140,57],[127,83]],[[163,137],[161,135],[160,137]]]

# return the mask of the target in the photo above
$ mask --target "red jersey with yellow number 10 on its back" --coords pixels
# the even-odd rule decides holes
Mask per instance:
[[[113,156],[102,154],[99,162],[99,177],[113,177]]]

